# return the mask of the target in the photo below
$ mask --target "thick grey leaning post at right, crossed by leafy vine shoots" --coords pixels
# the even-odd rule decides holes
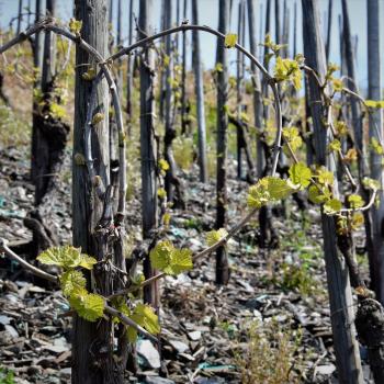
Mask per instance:
[[[325,50],[320,34],[318,2],[302,0],[303,7],[303,41],[304,56],[307,65],[324,78],[326,64]],[[327,163],[327,131],[323,125],[324,108],[320,100],[318,84],[313,77],[309,83],[309,108],[314,123],[316,163]],[[330,319],[334,335],[334,347],[338,377],[343,384],[363,383],[359,343],[355,338],[353,300],[349,281],[349,273],[342,257],[338,252],[335,219],[321,214],[324,256],[328,282],[330,304]]]

